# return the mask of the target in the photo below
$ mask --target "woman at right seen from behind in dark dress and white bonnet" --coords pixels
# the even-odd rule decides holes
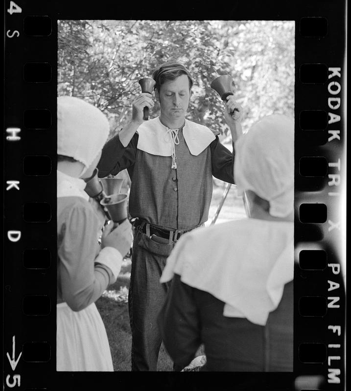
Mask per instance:
[[[186,367],[201,344],[208,371],[293,370],[294,123],[258,121],[235,144],[249,218],[184,235],[160,282],[164,346]]]

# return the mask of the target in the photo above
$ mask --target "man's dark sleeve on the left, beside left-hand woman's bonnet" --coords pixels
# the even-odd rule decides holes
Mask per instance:
[[[123,147],[119,140],[119,135],[112,137],[103,147],[101,157],[97,163],[99,178],[112,174],[116,175],[120,171],[134,165],[137,153],[139,134],[135,133],[129,144]]]

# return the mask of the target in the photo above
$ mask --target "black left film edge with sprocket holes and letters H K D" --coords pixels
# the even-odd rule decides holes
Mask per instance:
[[[29,8],[5,2],[6,390],[46,389],[56,366],[57,44],[55,18]]]

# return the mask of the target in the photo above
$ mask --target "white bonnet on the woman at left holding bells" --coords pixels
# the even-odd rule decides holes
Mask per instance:
[[[57,98],[57,154],[83,163],[82,174],[102,150],[109,129],[106,116],[90,103],[73,96]]]

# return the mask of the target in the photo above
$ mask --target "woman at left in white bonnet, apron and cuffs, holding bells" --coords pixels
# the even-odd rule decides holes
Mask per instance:
[[[114,283],[132,242],[128,220],[101,226],[84,178],[92,176],[109,124],[93,105],[57,99],[57,332],[58,371],[113,371],[105,326],[95,301]]]

